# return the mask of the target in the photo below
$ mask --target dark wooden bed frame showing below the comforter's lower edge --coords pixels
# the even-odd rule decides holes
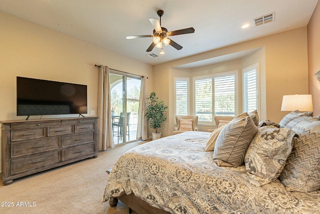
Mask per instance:
[[[112,169],[106,170],[109,174]],[[170,214],[170,212],[164,211],[162,209],[158,209],[149,205],[144,200],[138,198],[133,193],[131,194],[123,194],[118,197],[110,197],[109,204],[114,207],[118,203],[118,200],[122,201],[125,205],[129,207],[129,213],[131,213],[132,209],[137,213],[143,214]]]

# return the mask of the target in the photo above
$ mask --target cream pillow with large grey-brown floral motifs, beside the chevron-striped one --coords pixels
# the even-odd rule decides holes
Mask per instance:
[[[249,182],[262,186],[281,173],[292,150],[295,132],[287,128],[263,126],[258,129],[245,154],[245,171]]]

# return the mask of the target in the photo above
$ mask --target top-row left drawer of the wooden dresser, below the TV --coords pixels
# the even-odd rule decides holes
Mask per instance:
[[[29,140],[45,137],[45,127],[32,129],[15,129],[10,131],[11,141]]]

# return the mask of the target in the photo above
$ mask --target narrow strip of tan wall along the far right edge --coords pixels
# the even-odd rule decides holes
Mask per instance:
[[[320,70],[320,3],[316,5],[309,21],[308,32],[308,70],[309,94],[312,94],[313,115],[320,115],[320,82],[314,74]]]

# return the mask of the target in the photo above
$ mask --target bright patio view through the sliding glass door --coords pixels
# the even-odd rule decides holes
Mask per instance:
[[[111,117],[114,144],[136,140],[140,78],[110,71]]]

